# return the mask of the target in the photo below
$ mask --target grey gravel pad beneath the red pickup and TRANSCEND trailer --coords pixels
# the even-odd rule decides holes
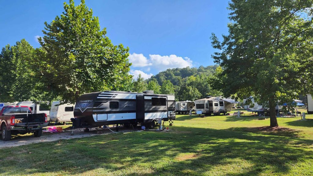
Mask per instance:
[[[112,129],[112,130],[115,131],[115,129]],[[30,143],[51,142],[51,141],[57,141],[60,139],[83,138],[83,137],[113,133],[109,129],[103,129],[101,131],[103,131],[102,134],[96,134],[97,130],[95,128],[92,128],[90,132],[84,132],[84,131],[81,132],[79,129],[74,129],[74,136],[70,135],[72,132],[70,130],[66,130],[63,133],[43,133],[42,136],[39,138],[35,138],[33,135],[12,136],[11,140],[9,141],[0,140],[0,148],[26,145]],[[131,128],[119,128],[120,133],[133,132],[133,131],[134,130],[132,130]]]

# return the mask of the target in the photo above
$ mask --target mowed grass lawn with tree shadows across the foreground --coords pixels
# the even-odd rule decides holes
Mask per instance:
[[[313,175],[313,120],[299,119],[278,118],[280,126],[293,130],[259,132],[253,127],[267,126],[269,119],[178,115],[168,132],[2,148],[0,174]]]

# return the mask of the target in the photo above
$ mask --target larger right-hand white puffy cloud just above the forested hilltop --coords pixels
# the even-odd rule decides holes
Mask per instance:
[[[152,65],[159,69],[167,68],[185,68],[192,67],[192,60],[190,58],[178,57],[175,54],[170,56],[161,56],[158,54],[149,54]]]

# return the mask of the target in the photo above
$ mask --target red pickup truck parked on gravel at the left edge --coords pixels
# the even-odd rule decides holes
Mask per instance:
[[[35,137],[42,135],[43,127],[48,126],[47,114],[32,114],[28,106],[4,106],[0,111],[0,136],[8,141],[11,134],[33,132]]]

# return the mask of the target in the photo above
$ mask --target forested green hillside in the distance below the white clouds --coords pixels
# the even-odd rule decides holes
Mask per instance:
[[[218,65],[199,68],[173,68],[160,72],[147,80],[150,89],[154,89],[158,83],[162,87],[173,87],[176,99],[179,101],[195,100],[205,96],[219,96],[219,91],[210,87],[213,74],[216,69],[220,69]],[[164,86],[163,83],[167,84]],[[156,88],[158,89],[158,88]],[[155,91],[165,93],[164,91]]]

